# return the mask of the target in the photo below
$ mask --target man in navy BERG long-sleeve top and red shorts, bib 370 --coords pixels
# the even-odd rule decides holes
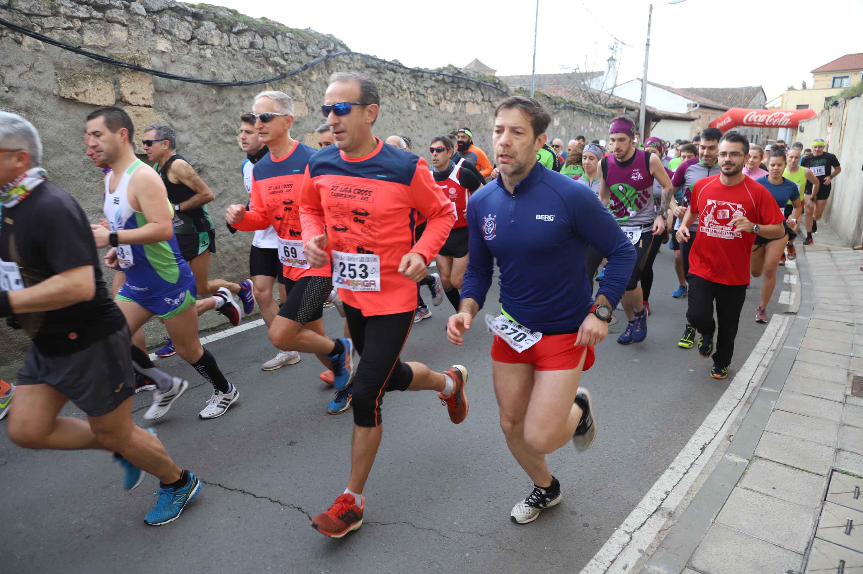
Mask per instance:
[[[635,249],[589,187],[536,161],[551,113],[533,98],[507,98],[494,111],[499,177],[468,202],[470,261],[459,312],[447,338],[463,334],[485,302],[494,259],[501,270],[501,310],[486,316],[494,332],[494,394],[509,450],[534,483],[510,518],[526,523],[561,499],[545,455],[570,439],[579,451],[596,436],[590,393],[579,388],[594,345],[627,286]],[[590,245],[608,258],[591,299],[585,268]]]

